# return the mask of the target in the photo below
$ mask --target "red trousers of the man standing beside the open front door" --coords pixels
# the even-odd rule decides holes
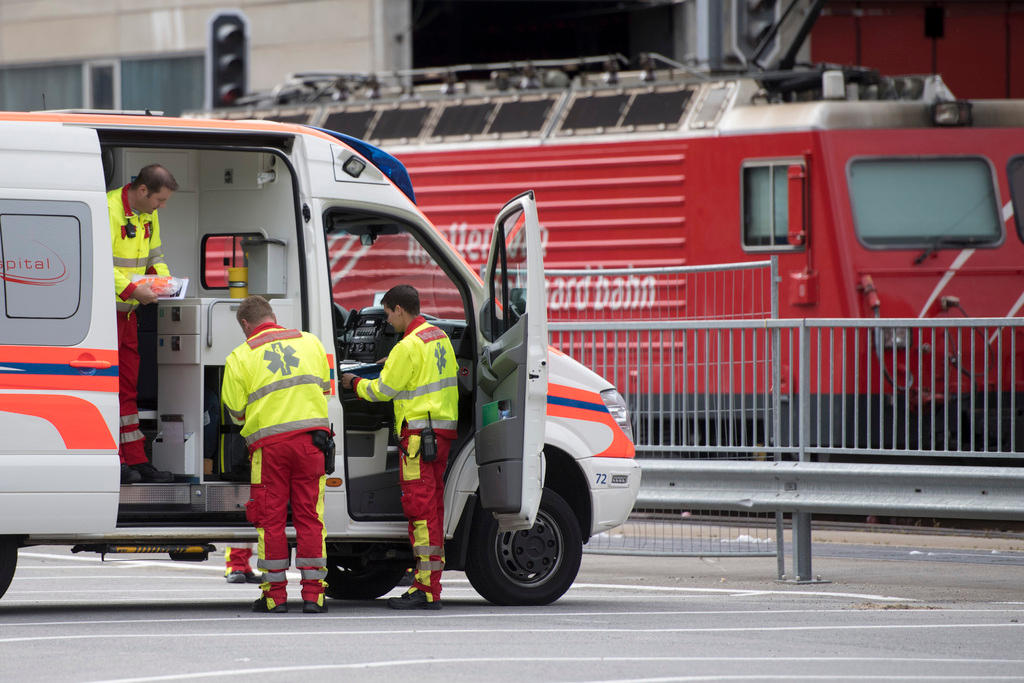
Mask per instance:
[[[416,555],[413,589],[429,600],[440,600],[441,569],[444,568],[444,468],[452,438],[437,434],[437,459],[420,458],[420,436],[401,436],[401,510],[409,519],[409,543]]]

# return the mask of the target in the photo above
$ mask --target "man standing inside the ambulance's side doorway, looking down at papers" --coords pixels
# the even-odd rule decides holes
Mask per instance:
[[[111,216],[111,242],[114,244],[114,300],[118,311],[118,393],[121,402],[121,483],[138,481],[167,482],[174,478],[145,459],[145,437],[138,425],[138,316],[135,308],[157,301],[145,284],[135,285],[131,278],[146,272],[169,275],[160,245],[160,219],[157,210],[178,188],[178,183],[163,166],[151,164],[124,187],[106,193]]]

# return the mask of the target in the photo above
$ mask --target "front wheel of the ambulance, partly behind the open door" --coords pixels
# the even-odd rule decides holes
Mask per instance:
[[[545,488],[532,528],[499,533],[495,518],[477,511],[466,577],[495,604],[546,605],[569,589],[582,558],[580,522],[561,496]]]

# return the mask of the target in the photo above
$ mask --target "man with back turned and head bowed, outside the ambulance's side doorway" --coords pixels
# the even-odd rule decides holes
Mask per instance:
[[[327,396],[331,369],[313,335],[286,330],[266,299],[251,296],[237,313],[246,341],[224,366],[221,400],[242,425],[252,458],[246,517],[259,535],[256,566],[265,572],[256,612],[288,611],[288,504],[295,526],[295,566],[302,577],[303,612],[326,612],[324,579],[324,453],[314,441],[331,432]],[[317,434],[317,432],[322,432]]]

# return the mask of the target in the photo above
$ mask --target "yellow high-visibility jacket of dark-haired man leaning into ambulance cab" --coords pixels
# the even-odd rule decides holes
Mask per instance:
[[[355,393],[364,400],[394,401],[394,431],[403,423],[412,431],[459,427],[459,364],[444,332],[417,315],[387,356],[380,377],[359,380]]]

